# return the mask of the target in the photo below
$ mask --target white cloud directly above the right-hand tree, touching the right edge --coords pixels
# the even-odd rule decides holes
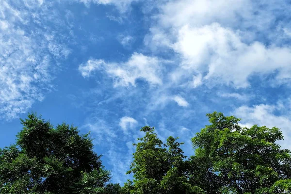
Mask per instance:
[[[242,125],[251,127],[255,124],[259,126],[266,126],[268,128],[277,127],[282,130],[284,135],[284,141],[280,141],[279,144],[283,148],[291,149],[291,120],[287,114],[277,115],[276,111],[282,111],[284,109],[280,104],[266,105],[260,104],[252,107],[241,106],[234,111],[234,115],[238,118],[242,118]]]

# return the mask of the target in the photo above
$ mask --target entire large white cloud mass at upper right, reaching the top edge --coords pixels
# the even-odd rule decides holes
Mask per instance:
[[[194,88],[202,83],[245,88],[250,86],[249,78],[253,75],[274,72],[277,75],[273,83],[287,83],[291,79],[291,49],[276,45],[279,38],[273,33],[277,31],[270,31],[279,13],[275,10],[284,14],[290,7],[285,0],[280,3],[279,6],[273,0],[168,1],[159,6],[160,14],[153,17],[157,20],[145,37],[145,44],[153,51],[174,50],[180,61],[175,69],[179,73],[171,75],[176,81],[189,82],[194,74],[193,84],[188,84]],[[265,9],[259,9],[260,6]],[[267,41],[272,38],[274,44],[266,46],[259,42],[257,34],[264,34]]]

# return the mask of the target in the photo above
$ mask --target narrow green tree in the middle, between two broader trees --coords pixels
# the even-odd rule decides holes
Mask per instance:
[[[143,127],[146,134],[133,144],[136,151],[129,173],[133,182],[125,187],[130,194],[192,194],[200,189],[188,182],[184,152],[178,138],[169,137],[166,144],[157,137],[154,128]]]

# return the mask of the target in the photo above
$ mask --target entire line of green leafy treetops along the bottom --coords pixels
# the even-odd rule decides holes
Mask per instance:
[[[178,138],[162,142],[151,127],[133,144],[132,180],[110,183],[110,172],[88,134],[29,114],[16,145],[0,149],[1,194],[289,194],[291,151],[278,128],[242,128],[240,119],[210,113],[192,138],[194,156]]]

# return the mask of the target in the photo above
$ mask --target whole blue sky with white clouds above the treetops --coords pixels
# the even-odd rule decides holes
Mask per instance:
[[[0,147],[33,111],[91,131],[124,182],[145,125],[190,138],[223,112],[291,148],[289,0],[1,0]]]

